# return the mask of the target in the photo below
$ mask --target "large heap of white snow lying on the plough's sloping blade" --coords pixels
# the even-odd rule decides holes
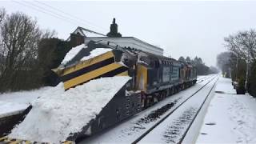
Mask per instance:
[[[128,82],[130,77],[98,78],[64,91],[63,84],[47,90],[10,138],[59,143],[79,132]]]

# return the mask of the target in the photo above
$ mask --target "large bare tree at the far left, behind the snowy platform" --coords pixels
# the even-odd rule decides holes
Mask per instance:
[[[4,14],[0,34],[0,90],[40,86],[38,42],[50,32],[42,32],[37,21],[17,12]]]

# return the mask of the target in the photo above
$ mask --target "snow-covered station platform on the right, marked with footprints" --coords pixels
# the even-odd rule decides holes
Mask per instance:
[[[219,78],[197,143],[256,143],[256,99]]]

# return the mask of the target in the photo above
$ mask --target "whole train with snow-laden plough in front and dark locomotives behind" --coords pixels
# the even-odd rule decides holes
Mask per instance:
[[[105,41],[72,48],[53,71],[61,82],[0,142],[78,142],[197,81],[189,63]]]

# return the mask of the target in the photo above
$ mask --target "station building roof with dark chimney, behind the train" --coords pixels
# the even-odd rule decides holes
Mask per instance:
[[[118,25],[115,23],[115,19],[110,26],[110,33],[108,34],[100,34],[93,30],[88,30],[78,26],[78,28],[70,34],[70,38],[68,40],[70,40],[72,47],[81,45],[82,43],[88,43],[92,40],[95,42],[103,42],[107,45],[130,47],[150,54],[163,55],[163,49],[158,46],[143,42],[138,38],[122,37],[122,34],[118,33]]]

